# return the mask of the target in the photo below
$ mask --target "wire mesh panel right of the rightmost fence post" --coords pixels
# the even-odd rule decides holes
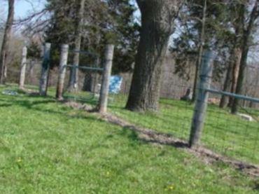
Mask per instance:
[[[207,109],[202,144],[231,158],[259,164],[259,84],[255,74],[259,74],[259,68],[246,68],[242,95],[223,95],[221,87],[211,84],[211,89],[219,92],[209,94],[216,105]],[[227,105],[219,109],[222,97],[227,99]],[[232,114],[236,100],[238,111]]]

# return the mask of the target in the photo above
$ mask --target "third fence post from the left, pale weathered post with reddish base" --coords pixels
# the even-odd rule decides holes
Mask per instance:
[[[57,79],[56,98],[58,100],[63,99],[64,78],[66,76],[66,65],[67,65],[68,57],[69,57],[69,46],[67,44],[63,44],[61,46],[61,53],[60,53],[60,60],[59,60],[59,75]]]

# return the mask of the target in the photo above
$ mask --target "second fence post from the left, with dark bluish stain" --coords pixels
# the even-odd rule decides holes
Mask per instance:
[[[50,47],[50,43],[45,43],[39,87],[39,93],[41,96],[47,95],[48,90],[48,74],[50,70]]]

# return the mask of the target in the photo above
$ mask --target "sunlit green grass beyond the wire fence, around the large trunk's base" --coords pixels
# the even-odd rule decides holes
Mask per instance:
[[[173,99],[161,99],[158,113],[127,111],[125,97],[114,97],[110,111],[136,125],[172,134],[188,141],[194,104]],[[240,109],[259,120],[259,111]],[[230,114],[229,109],[209,105],[201,144],[217,153],[259,165],[259,122],[249,122]]]

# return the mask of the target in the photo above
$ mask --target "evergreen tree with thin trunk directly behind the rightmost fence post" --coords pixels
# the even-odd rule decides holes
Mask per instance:
[[[178,19],[179,36],[174,39],[170,50],[176,58],[175,73],[182,78],[190,78],[194,73],[193,97],[200,71],[200,63],[204,48],[214,51],[219,62],[214,66],[214,80],[221,78],[225,69],[226,53],[229,50],[228,10],[222,1],[186,1]]]

